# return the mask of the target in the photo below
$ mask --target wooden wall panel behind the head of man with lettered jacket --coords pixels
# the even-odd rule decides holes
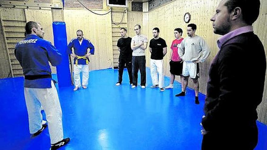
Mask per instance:
[[[26,22],[35,21],[40,23],[45,32],[44,39],[50,41],[54,45],[52,11],[25,9],[25,16],[26,16]],[[51,64],[50,66],[52,73],[56,73],[56,67],[53,67]]]

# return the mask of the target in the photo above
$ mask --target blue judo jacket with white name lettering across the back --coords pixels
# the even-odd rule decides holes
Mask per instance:
[[[30,34],[15,46],[15,56],[23,69],[26,88],[52,88],[51,68],[59,65],[62,57],[51,42]],[[26,78],[27,77],[27,78]]]

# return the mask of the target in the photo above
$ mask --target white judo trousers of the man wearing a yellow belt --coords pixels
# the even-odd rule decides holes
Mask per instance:
[[[81,86],[81,80],[80,80],[80,72],[82,72],[82,85],[87,86],[88,85],[88,78],[89,78],[89,65],[74,65],[74,84],[75,87]]]

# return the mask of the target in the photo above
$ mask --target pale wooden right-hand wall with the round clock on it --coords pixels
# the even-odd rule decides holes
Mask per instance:
[[[167,54],[164,57],[164,74],[169,76],[169,58],[170,45],[174,40],[174,28],[182,28],[182,37],[186,38],[187,25],[184,20],[184,14],[189,12],[191,14],[190,23],[197,25],[196,34],[203,37],[208,43],[211,54],[209,58],[200,64],[200,79],[199,91],[206,94],[206,86],[208,81],[208,70],[211,61],[218,52],[217,39],[219,35],[213,33],[212,22],[210,18],[214,15],[216,7],[221,0],[176,0],[170,2],[162,7],[143,14],[143,25],[146,28],[146,34],[149,39],[153,38],[152,29],[158,27],[160,29],[160,37],[165,39],[167,43]],[[164,12],[164,13],[163,13]],[[129,18],[130,19],[130,18]],[[258,20],[253,24],[254,32],[261,39],[265,53],[267,50],[267,1],[261,0],[261,9]],[[144,31],[143,31],[144,32]],[[147,51],[148,52],[148,51]],[[147,66],[149,66],[150,53],[147,53]],[[176,78],[177,79],[177,78]],[[167,85],[168,83],[165,83]],[[193,83],[189,82],[189,87],[193,88]],[[257,111],[259,121],[267,124],[267,81],[265,81],[265,91],[262,103],[259,105]]]

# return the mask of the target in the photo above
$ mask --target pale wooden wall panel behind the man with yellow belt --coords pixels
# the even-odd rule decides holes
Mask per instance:
[[[103,14],[107,11],[94,11]],[[76,37],[78,29],[83,30],[95,46],[95,55],[90,56],[90,70],[112,68],[112,28],[111,15],[95,15],[87,10],[65,9],[68,42]]]

